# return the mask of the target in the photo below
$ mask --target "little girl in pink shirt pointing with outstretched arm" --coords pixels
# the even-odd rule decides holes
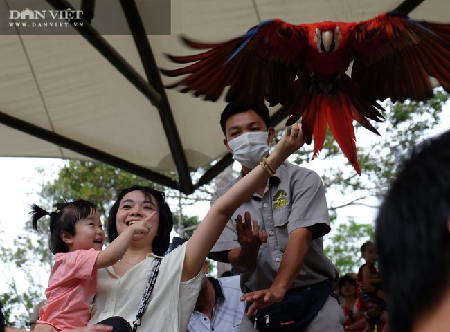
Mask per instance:
[[[59,203],[53,212],[32,205],[33,228],[50,216],[49,247],[55,254],[46,289],[46,304],[41,308],[35,331],[61,331],[86,325],[91,317],[89,299],[96,292],[97,270],[116,264],[133,237],[152,230],[155,213],[129,223],[120,237],[102,251],[105,232],[95,205],[82,199]],[[111,326],[96,326],[96,331],[111,331]]]

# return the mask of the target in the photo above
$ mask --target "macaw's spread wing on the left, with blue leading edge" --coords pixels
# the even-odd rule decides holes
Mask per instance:
[[[307,45],[304,31],[278,19],[265,21],[245,35],[219,44],[204,44],[183,39],[195,49],[206,52],[186,57],[169,56],[173,62],[189,66],[161,71],[170,77],[186,75],[169,88],[182,86],[205,100],[216,101],[226,86],[227,102],[264,102],[286,104],[292,98],[296,67]]]

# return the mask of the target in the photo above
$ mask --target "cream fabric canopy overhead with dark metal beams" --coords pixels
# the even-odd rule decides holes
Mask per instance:
[[[118,1],[97,1],[92,27],[107,33],[100,22],[126,22],[125,12],[131,17],[130,29],[139,29],[133,15],[150,21],[152,1],[136,0],[136,12],[132,0],[120,1],[123,7]],[[25,9],[19,0],[0,2],[3,9]],[[81,8],[80,1],[28,3],[48,10]],[[164,53],[190,52],[178,38],[181,33],[221,42],[273,18],[292,24],[361,21],[401,5],[414,19],[447,23],[450,12],[448,0],[172,0],[170,4],[171,34],[145,33],[136,43],[129,32],[24,35],[15,28],[13,34],[0,35],[0,156],[100,160],[189,194],[232,160],[219,128],[224,102],[205,102],[161,85],[158,67],[176,67]],[[117,15],[111,15],[113,7]],[[4,14],[5,10],[3,24]],[[86,22],[80,31],[90,28]],[[162,80],[173,82],[168,77]],[[215,167],[192,183],[190,172],[211,163]],[[159,171],[174,172],[176,179]]]

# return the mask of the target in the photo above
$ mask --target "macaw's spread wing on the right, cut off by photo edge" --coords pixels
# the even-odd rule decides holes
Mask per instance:
[[[450,93],[450,24],[388,13],[354,26],[352,80],[368,100],[423,100],[429,76]]]

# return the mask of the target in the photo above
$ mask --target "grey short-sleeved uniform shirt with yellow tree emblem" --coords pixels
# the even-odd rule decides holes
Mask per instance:
[[[217,190],[211,203],[222,196],[239,178]],[[269,178],[263,196],[253,194],[228,221],[212,252],[240,247],[237,242],[235,219],[244,218],[248,211],[251,220],[258,221],[260,230],[267,232],[267,243],[258,252],[255,268],[242,273],[241,288],[244,293],[269,288],[280,268],[289,233],[297,228],[316,225],[313,241],[305,257],[303,268],[290,289],[311,286],[326,279],[336,280],[338,271],[323,253],[323,235],[330,232],[325,189],[321,178],[309,169],[283,163],[275,176]]]

